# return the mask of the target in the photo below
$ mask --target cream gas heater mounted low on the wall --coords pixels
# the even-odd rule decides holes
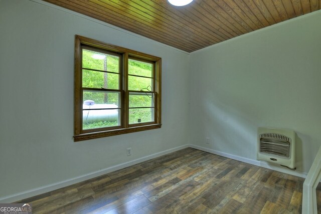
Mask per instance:
[[[287,129],[258,128],[257,159],[295,170],[295,132]]]

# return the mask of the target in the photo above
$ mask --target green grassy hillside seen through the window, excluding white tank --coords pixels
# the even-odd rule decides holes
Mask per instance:
[[[101,54],[88,50],[82,52],[82,86],[85,88],[106,88],[119,90],[121,79],[119,73],[119,57]],[[94,69],[113,73],[86,70]],[[152,87],[152,64],[129,60],[128,62],[128,89],[134,91]],[[135,76],[131,76],[135,75]],[[137,77],[142,76],[142,77]],[[149,77],[149,78],[144,78]],[[149,87],[149,88],[150,88]],[[149,97],[148,97],[149,96]],[[129,107],[152,107],[151,94],[130,95]],[[89,92],[83,93],[83,101],[93,100],[95,104],[113,104],[121,107],[119,93]],[[137,122],[150,122],[153,120],[153,108],[141,108],[129,110],[129,124]],[[83,129],[93,129],[118,125],[118,121],[99,121],[87,123],[83,121]]]

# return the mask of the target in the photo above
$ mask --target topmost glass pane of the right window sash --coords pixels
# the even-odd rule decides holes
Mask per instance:
[[[136,60],[128,60],[128,74],[152,77],[152,66],[151,63],[139,62]]]

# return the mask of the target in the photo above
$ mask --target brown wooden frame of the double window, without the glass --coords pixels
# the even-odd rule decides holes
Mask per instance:
[[[120,55],[121,65],[119,74],[119,90],[121,94],[121,121],[120,126],[97,128],[97,129],[82,129],[82,49],[86,50],[100,50],[102,53],[112,53],[113,55]],[[128,60],[134,59],[141,62],[148,62],[153,64],[153,99],[154,99],[154,121],[145,123],[129,124],[129,93],[133,91],[128,90]],[[140,53],[130,49],[122,48],[115,45],[110,45],[104,42],[93,40],[90,38],[75,36],[75,78],[74,78],[74,141],[82,141],[88,139],[95,139],[100,137],[107,137],[137,131],[144,131],[162,127],[162,59],[148,54]],[[96,89],[95,89],[96,90]],[[96,90],[97,91],[97,90]],[[139,93],[142,93],[141,91]]]

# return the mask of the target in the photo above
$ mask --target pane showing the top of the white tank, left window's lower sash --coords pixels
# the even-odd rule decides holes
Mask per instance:
[[[119,92],[83,92],[83,109],[118,108],[120,104]]]

